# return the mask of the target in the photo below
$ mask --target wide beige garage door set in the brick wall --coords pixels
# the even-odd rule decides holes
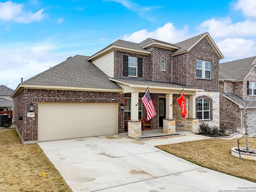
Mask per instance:
[[[38,141],[115,134],[115,103],[38,103]]]

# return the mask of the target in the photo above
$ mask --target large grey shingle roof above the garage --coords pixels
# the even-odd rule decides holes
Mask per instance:
[[[76,55],[24,81],[21,84],[122,89],[92,62],[88,56]]]

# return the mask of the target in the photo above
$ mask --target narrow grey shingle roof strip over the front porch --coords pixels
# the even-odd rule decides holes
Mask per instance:
[[[174,88],[194,88],[194,86],[186,86],[186,85],[176,84],[172,82],[162,82],[162,81],[154,81],[154,80],[148,80],[148,79],[124,78],[124,77],[114,77],[113,79],[130,83],[130,84],[135,84],[135,85],[174,87]]]

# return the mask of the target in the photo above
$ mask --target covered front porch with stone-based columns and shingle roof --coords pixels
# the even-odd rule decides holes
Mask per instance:
[[[129,99],[129,111],[124,110],[125,118],[128,121],[128,136],[132,138],[142,137],[150,132],[142,131],[140,117],[147,117],[146,110],[138,104],[140,98],[144,96],[145,90],[149,87],[156,115],[152,119],[152,134],[162,132],[162,134],[177,134],[178,132],[198,132],[198,119],[196,118],[196,92],[204,91],[192,86],[184,86],[171,82],[157,82],[152,80],[141,80],[131,78],[111,78],[122,88],[124,98]],[[178,102],[173,101],[179,97],[181,90],[184,90],[187,114],[181,117],[181,110]],[[140,109],[139,109],[140,106]],[[125,106],[125,109],[127,106]],[[154,131],[156,130],[156,131]]]

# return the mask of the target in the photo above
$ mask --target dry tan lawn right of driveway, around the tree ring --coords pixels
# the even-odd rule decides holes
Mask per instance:
[[[156,147],[202,167],[256,182],[256,161],[231,155],[237,139],[205,139]],[[240,140],[240,147],[245,147],[245,138]],[[256,148],[252,138],[249,138],[249,147]]]

